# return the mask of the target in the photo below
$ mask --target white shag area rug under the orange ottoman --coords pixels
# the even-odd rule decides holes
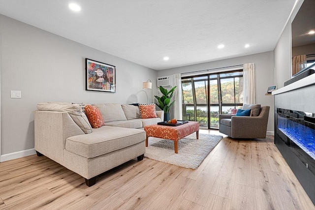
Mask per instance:
[[[223,137],[196,133],[178,141],[178,153],[174,151],[174,141],[149,137],[145,157],[161,162],[181,166],[184,168],[196,169],[213,150]]]

